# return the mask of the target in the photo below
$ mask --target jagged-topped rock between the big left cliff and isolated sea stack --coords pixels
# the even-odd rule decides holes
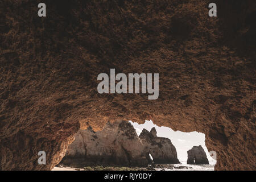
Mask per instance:
[[[155,127],[151,131],[143,129],[139,135],[145,153],[152,155],[155,164],[178,164],[177,151],[171,140],[164,137],[157,137]]]

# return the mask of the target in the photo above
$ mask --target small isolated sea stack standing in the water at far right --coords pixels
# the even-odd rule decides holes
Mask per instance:
[[[209,164],[209,160],[202,146],[193,146],[191,150],[188,150],[187,164]]]

